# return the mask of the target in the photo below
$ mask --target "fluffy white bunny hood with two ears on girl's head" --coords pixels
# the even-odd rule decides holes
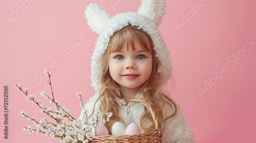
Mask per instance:
[[[100,90],[100,79],[102,69],[97,61],[102,57],[102,54],[109,45],[110,38],[113,34],[127,25],[138,27],[147,32],[154,43],[156,57],[160,59],[163,66],[168,71],[172,71],[171,58],[169,51],[164,42],[163,36],[160,33],[158,26],[164,14],[166,3],[164,0],[142,0],[139,10],[136,12],[119,13],[110,17],[106,11],[101,10],[97,4],[89,4],[86,11],[86,19],[92,31],[99,34],[95,49],[92,56],[91,72],[92,86],[96,91]]]

